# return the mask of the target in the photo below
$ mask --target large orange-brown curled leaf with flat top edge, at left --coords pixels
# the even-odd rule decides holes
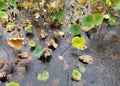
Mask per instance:
[[[24,38],[9,38],[7,43],[15,50],[20,50],[23,47]]]

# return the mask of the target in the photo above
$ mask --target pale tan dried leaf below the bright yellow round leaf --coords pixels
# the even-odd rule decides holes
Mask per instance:
[[[84,62],[84,63],[87,63],[87,64],[92,64],[93,63],[93,57],[90,56],[90,55],[79,56],[79,60]]]

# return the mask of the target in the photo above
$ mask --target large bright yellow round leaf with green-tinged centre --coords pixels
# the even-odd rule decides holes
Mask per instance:
[[[85,48],[86,41],[83,37],[74,37],[71,43],[73,47],[83,49]]]

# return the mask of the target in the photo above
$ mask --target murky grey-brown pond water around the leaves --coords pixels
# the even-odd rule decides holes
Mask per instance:
[[[65,16],[68,14],[67,3],[70,4],[73,2],[66,1],[66,9],[64,9],[66,11]],[[23,15],[29,17],[26,11],[23,12]],[[5,65],[5,68],[0,69],[0,72],[4,70],[11,72],[11,68],[13,68],[14,72],[8,82],[19,82],[21,86],[120,86],[120,42],[117,42],[117,39],[112,38],[112,36],[107,40],[103,39],[105,35],[109,35],[112,32],[115,32],[120,37],[119,27],[119,25],[109,27],[103,24],[101,28],[98,27],[97,32],[89,32],[90,38],[83,33],[82,36],[86,38],[88,46],[84,51],[73,48],[70,42],[60,38],[58,43],[59,47],[52,52],[50,62],[43,63],[40,60],[31,60],[27,63],[19,63],[18,65],[13,63],[12,66]],[[34,26],[33,29],[33,33],[35,34],[33,39],[38,45],[45,46],[44,41],[52,37],[51,33],[49,33],[49,37],[46,40],[38,40],[36,27]],[[49,29],[45,28],[46,31]],[[72,38],[69,35],[69,26],[67,28],[62,26],[62,31],[66,33],[68,39]],[[18,51],[16,52],[7,46],[4,37],[0,40],[0,43],[2,46],[0,47],[0,59],[12,63],[16,59]],[[27,45],[24,46],[22,51],[27,51],[31,54],[29,49],[30,47]],[[58,56],[61,54],[64,56],[64,61],[58,59]],[[72,81],[72,70],[77,69],[75,66],[77,55],[84,54],[93,56],[94,63],[91,65],[83,64],[87,68],[87,71],[82,74],[82,80],[79,82]],[[26,66],[27,71],[24,73],[17,72],[17,68],[20,66]],[[50,74],[49,80],[38,81],[37,75],[44,69]],[[5,86],[5,83],[0,82],[0,86]]]

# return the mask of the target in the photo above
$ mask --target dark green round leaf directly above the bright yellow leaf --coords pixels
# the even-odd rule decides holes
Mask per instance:
[[[72,24],[70,31],[73,35],[79,35],[82,32],[82,28],[79,24]]]

